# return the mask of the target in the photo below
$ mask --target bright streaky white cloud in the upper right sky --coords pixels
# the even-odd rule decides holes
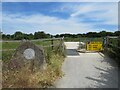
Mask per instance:
[[[76,10],[76,8],[75,8]],[[101,13],[98,13],[101,12]],[[91,14],[91,12],[94,12]],[[84,15],[87,18],[96,20],[105,20],[104,24],[118,24],[118,3],[91,3],[84,6],[78,6],[77,10],[71,14],[71,17]],[[102,22],[103,23],[103,22]]]

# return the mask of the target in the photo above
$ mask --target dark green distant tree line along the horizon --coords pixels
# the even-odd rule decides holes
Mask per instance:
[[[101,31],[101,32],[88,32],[88,33],[83,33],[83,34],[56,34],[56,35],[51,35],[47,34],[44,31],[38,31],[35,32],[34,34],[26,34],[22,33],[20,31],[15,32],[14,34],[2,34],[2,39],[3,40],[22,40],[22,39],[43,39],[43,38],[59,38],[59,37],[70,37],[70,38],[80,38],[80,37],[88,37],[88,38],[94,38],[94,37],[105,37],[105,36],[120,36],[120,31],[115,31],[115,32],[106,32],[106,31]]]

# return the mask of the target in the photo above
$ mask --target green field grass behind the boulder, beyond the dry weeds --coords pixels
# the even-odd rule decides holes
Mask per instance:
[[[51,51],[52,51],[52,47],[51,45],[51,41],[33,41],[33,43],[37,46],[48,46],[48,47],[43,47],[46,57],[49,58],[49,56],[51,55]],[[59,40],[56,40],[53,42],[53,44],[60,44]],[[11,57],[13,56],[15,50],[18,46],[20,45],[20,42],[3,42],[2,43],[2,61],[7,62],[11,59]],[[50,47],[49,47],[50,46]],[[56,49],[58,48],[58,46],[53,47],[53,51],[57,51]],[[13,50],[11,50],[13,49]],[[59,49],[58,49],[59,50]],[[60,51],[57,51],[60,52]]]

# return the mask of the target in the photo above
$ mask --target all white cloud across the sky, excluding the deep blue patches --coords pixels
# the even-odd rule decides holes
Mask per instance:
[[[3,14],[3,32],[6,33],[8,30],[11,30],[10,32],[14,33],[16,30],[21,30],[26,33],[33,33],[38,30],[44,30],[45,32],[52,34],[65,32],[84,33],[90,31],[99,31],[98,29],[93,28],[94,25],[97,24],[117,25],[117,3],[90,3],[85,5],[76,4],[73,6],[72,4],[65,4],[60,8],[61,10],[58,9],[60,12],[71,10],[71,16],[68,19],[60,19],[42,14],[28,16],[24,16],[22,14]],[[57,12],[56,10],[55,12]],[[95,13],[95,11],[102,12]],[[84,17],[79,17],[79,15],[82,14],[84,17],[97,20],[98,23],[83,23],[80,20],[84,19]],[[100,20],[104,21],[99,22]],[[102,29],[105,28],[103,27]]]

